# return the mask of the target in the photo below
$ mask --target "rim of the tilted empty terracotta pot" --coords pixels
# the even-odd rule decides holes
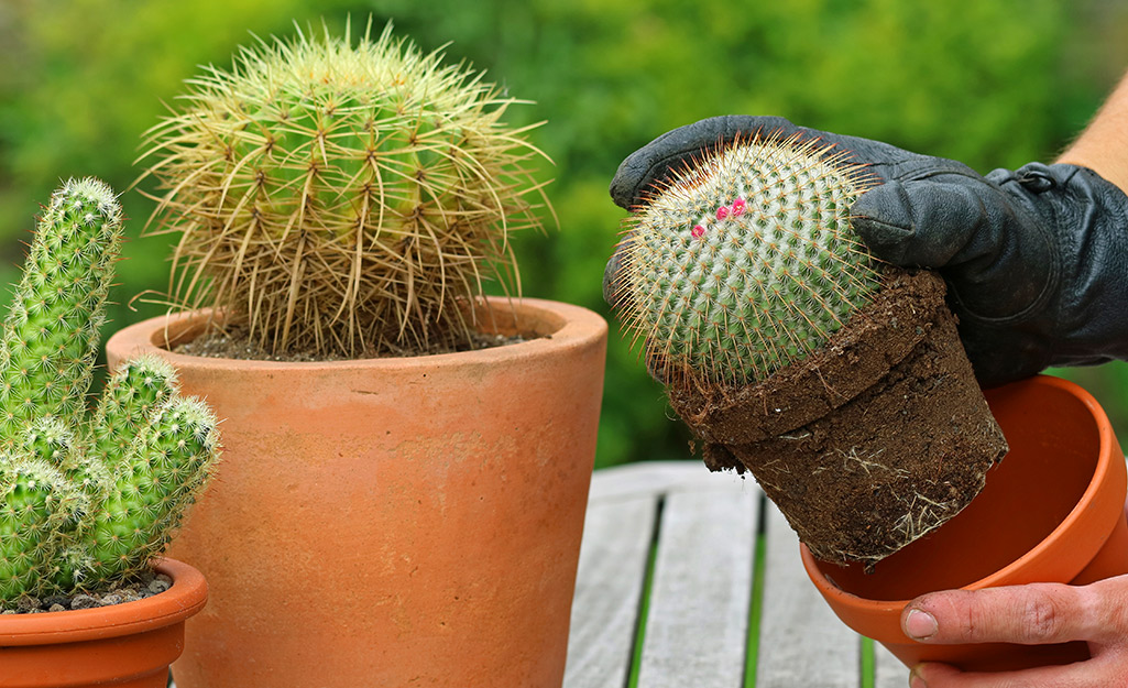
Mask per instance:
[[[978,581],[962,585],[959,588],[960,590],[982,590],[985,588],[997,588],[1025,582],[1020,576],[1021,572],[1031,564],[1047,556],[1052,556],[1052,548],[1055,547],[1055,544],[1060,541],[1066,532],[1074,530],[1078,526],[1078,522],[1095,522],[1101,519],[1103,515],[1101,513],[1102,510],[1094,509],[1094,502],[1098,500],[1098,494],[1107,489],[1107,485],[1110,483],[1116,484],[1119,482],[1122,484],[1125,482],[1125,457],[1116,451],[1118,443],[1116,435],[1112,432],[1112,424],[1109,422],[1109,417],[1104,413],[1104,409],[1101,408],[1101,405],[1091,394],[1089,394],[1089,391],[1069,380],[1045,374],[1034,376],[1020,383],[1056,387],[1068,392],[1085,406],[1092,415],[1093,423],[1098,431],[1096,467],[1093,470],[1093,476],[1090,479],[1085,492],[1077,500],[1077,503],[1069,511],[1069,513],[1052,531],[1050,531],[1049,535],[1047,535],[1040,543],[1031,547],[1021,557],[1014,559],[1003,568],[999,568],[990,575],[984,576]],[[1122,513],[1122,508],[1118,508],[1117,513]],[[1109,532],[1112,531],[1113,526],[1114,523],[1109,524]],[[1109,533],[1107,532],[1105,537],[1108,535]],[[1102,539],[1101,541],[1103,543],[1104,540]],[[811,581],[819,589],[819,592],[826,597],[836,598],[839,605],[853,607],[858,610],[867,610],[870,614],[890,615],[900,618],[901,611],[911,601],[907,599],[873,600],[846,592],[823,575],[821,568],[819,568],[818,563],[814,559],[814,556],[805,545],[800,545],[800,553],[803,559],[803,567],[807,570]],[[1086,562],[1077,563],[1077,572],[1085,566],[1085,563]]]

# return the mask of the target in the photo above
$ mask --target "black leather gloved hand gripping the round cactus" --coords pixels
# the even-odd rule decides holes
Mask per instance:
[[[979,382],[1049,365],[1128,359],[1128,196],[1074,165],[1031,162],[982,177],[954,160],[888,143],[732,115],[668,132],[619,166],[611,197],[632,209],[703,149],[748,136],[814,138],[882,182],[854,203],[854,228],[879,258],[934,267]],[[615,305],[611,256],[603,297]]]

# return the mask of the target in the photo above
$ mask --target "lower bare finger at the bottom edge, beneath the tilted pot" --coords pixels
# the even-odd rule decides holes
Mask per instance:
[[[1111,688],[1125,685],[1122,656],[1105,654],[1086,662],[1021,671],[963,672],[948,664],[914,667],[910,688]]]

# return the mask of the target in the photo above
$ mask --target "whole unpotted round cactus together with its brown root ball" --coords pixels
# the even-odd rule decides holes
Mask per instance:
[[[750,470],[832,562],[937,528],[1006,452],[943,281],[851,227],[876,183],[818,140],[738,138],[633,210],[614,285],[706,464]]]

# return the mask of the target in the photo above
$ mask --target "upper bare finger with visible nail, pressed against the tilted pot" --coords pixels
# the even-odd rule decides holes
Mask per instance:
[[[922,643],[1047,644],[1122,634],[1092,586],[1033,583],[922,596],[901,614],[906,635]]]

